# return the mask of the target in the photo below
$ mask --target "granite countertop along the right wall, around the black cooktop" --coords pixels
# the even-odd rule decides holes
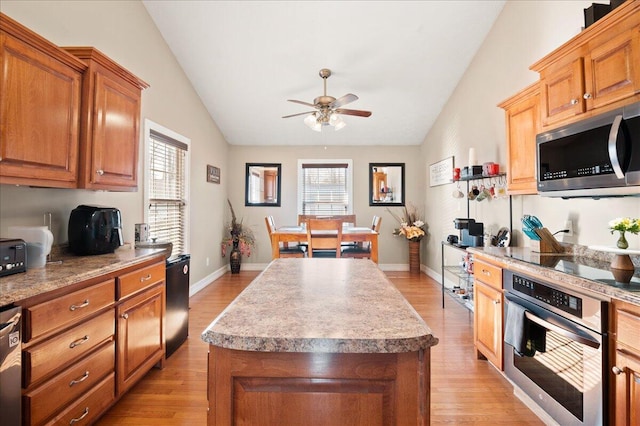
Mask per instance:
[[[504,265],[504,268],[510,270],[518,270],[523,273],[529,273],[530,275],[561,281],[565,285],[599,295],[606,300],[614,298],[640,306],[640,291],[629,291],[623,286],[611,286],[555,269],[554,262],[559,256],[570,256],[571,260],[577,264],[607,271],[611,269],[609,266],[611,263],[611,253],[597,252],[581,246],[573,247],[564,245],[564,248],[566,251],[559,255],[535,253],[529,248],[524,247],[468,247],[467,251],[493,259]],[[640,277],[639,261],[640,259],[633,258],[636,266],[636,277]],[[541,264],[536,265],[535,263]],[[545,264],[548,266],[543,266]]]

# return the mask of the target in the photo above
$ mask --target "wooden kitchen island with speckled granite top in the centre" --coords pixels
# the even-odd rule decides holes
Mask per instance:
[[[438,339],[370,260],[276,259],[202,339],[209,425],[429,424]]]

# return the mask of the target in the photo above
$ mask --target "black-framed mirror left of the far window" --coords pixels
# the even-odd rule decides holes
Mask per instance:
[[[276,163],[247,163],[245,206],[280,207],[280,169]]]

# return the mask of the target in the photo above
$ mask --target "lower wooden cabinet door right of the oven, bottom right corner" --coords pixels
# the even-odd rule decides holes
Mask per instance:
[[[618,349],[613,372],[615,424],[640,425],[640,358]]]

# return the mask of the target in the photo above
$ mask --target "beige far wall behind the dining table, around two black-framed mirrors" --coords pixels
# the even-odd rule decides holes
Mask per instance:
[[[301,126],[302,122],[299,123]],[[229,149],[229,199],[243,223],[252,227],[258,246],[248,263],[266,263],[271,260],[271,246],[264,222],[265,216],[274,217],[276,226],[297,222],[297,166],[298,159],[351,159],[353,160],[354,208],[359,226],[370,226],[374,215],[382,217],[379,239],[379,263],[390,268],[406,266],[409,245],[404,238],[392,234],[399,224],[382,206],[369,206],[369,163],[405,163],[405,200],[424,212],[424,183],[426,171],[420,160],[418,146],[231,146]],[[281,207],[245,207],[245,163],[282,164]],[[397,214],[400,207],[391,207]]]

